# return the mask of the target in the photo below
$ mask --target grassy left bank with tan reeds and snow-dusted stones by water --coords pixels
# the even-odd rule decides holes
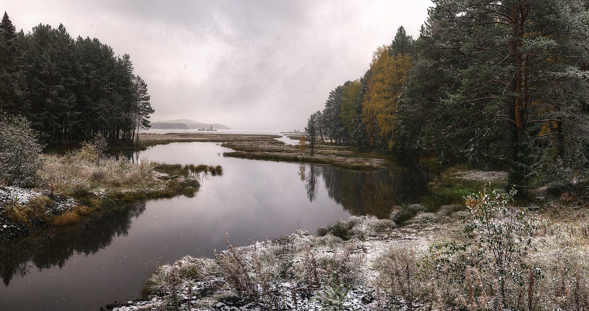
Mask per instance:
[[[111,206],[139,199],[194,196],[198,174],[220,166],[169,165],[87,153],[44,155],[34,189],[0,188],[0,245],[48,226],[63,226]]]

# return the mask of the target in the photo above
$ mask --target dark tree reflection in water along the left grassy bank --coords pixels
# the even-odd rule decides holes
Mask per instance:
[[[145,210],[145,202],[109,209],[77,225],[52,227],[0,247],[0,277],[8,286],[12,277],[24,277],[29,269],[63,267],[77,253],[88,256],[109,246],[117,236],[127,236],[131,220]]]

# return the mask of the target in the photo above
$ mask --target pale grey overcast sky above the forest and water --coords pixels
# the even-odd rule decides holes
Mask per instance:
[[[414,38],[431,0],[0,0],[16,29],[64,24],[128,53],[152,121],[303,129],[329,91],[368,69],[404,26]]]

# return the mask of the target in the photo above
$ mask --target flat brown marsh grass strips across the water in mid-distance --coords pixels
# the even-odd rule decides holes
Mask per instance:
[[[317,143],[315,155],[310,155],[309,146],[287,145],[277,141],[277,135],[237,135],[214,133],[141,133],[139,142],[142,148],[172,142],[222,142],[224,147],[234,152],[224,156],[233,158],[282,160],[288,162],[329,164],[350,169],[380,169],[389,165],[389,158],[380,153],[358,152],[351,146]]]

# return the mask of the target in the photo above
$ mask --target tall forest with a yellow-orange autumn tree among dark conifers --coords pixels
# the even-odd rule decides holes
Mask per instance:
[[[309,124],[401,159],[505,169],[512,185],[587,177],[588,16],[580,0],[436,1],[418,39],[399,28]]]

